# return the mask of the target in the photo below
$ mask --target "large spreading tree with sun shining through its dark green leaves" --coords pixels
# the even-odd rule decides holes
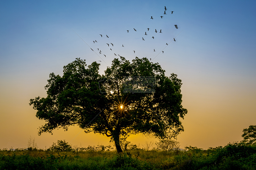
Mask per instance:
[[[36,117],[46,121],[39,135],[77,124],[85,133],[110,136],[122,152],[120,137],[142,133],[163,139],[183,131],[180,118],[187,109],[181,104],[182,83],[176,74],[165,76],[161,66],[147,58],[115,58],[105,75],[99,74],[99,66],[93,62],[87,67],[76,58],[63,67],[63,76],[50,74],[47,97],[29,103]]]

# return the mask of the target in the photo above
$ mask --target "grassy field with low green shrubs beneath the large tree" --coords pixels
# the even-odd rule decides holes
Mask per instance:
[[[256,169],[256,146],[242,143],[201,150],[170,152],[133,149],[118,154],[96,147],[69,148],[69,150],[38,150],[36,148],[0,150],[0,169],[8,170],[70,170],[70,169]]]

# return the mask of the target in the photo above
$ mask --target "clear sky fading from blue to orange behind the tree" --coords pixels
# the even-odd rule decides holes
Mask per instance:
[[[97,61],[104,74],[118,54],[129,61],[151,58],[166,76],[182,80],[188,114],[177,136],[180,148],[241,141],[256,120],[255,8],[252,0],[0,1],[0,149],[25,148],[30,136],[41,149],[57,140],[108,145],[109,137],[77,126],[38,136],[44,121],[29,100],[46,97],[49,74],[62,75],[75,58]],[[158,141],[142,134],[127,140],[141,148]]]

